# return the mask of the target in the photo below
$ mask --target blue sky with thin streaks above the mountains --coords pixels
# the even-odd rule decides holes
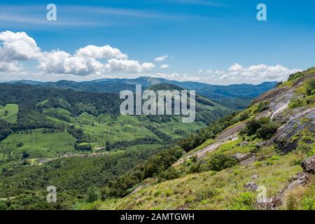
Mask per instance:
[[[48,3],[57,6],[57,21],[46,20]],[[258,3],[267,6],[267,21],[256,19]],[[61,62],[66,69],[51,68],[47,58],[56,55],[46,54],[44,62],[39,56],[11,58],[3,64],[20,69],[5,69],[13,66],[5,64],[1,71],[0,64],[0,80],[142,75],[218,84],[283,80],[315,65],[314,8],[311,0],[0,1],[0,32],[24,31],[41,52],[59,49],[70,56],[58,59],[69,60],[87,45],[110,45],[127,55],[127,62],[115,62],[106,71],[95,69],[94,60],[71,58],[93,66],[84,72],[68,69],[66,62]],[[5,48],[3,39],[1,44]],[[0,59],[1,50],[9,52],[0,48]],[[163,55],[168,56],[164,61],[155,60]],[[108,59],[99,57],[97,63],[108,67]],[[124,63],[133,69],[125,69]]]

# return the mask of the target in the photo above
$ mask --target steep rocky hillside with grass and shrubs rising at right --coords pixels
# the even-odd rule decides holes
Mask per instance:
[[[120,197],[112,197],[109,188],[103,200],[79,209],[314,210],[314,127],[312,68],[261,94],[246,110],[180,141],[182,156],[168,151],[164,166],[158,166],[158,158],[145,163],[158,168],[144,172],[125,193],[116,192]]]

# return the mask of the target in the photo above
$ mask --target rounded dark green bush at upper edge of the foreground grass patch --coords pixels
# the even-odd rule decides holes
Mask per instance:
[[[238,161],[236,158],[232,158],[230,155],[217,154],[209,158],[208,167],[210,170],[221,171],[229,167],[234,167],[237,164]]]

